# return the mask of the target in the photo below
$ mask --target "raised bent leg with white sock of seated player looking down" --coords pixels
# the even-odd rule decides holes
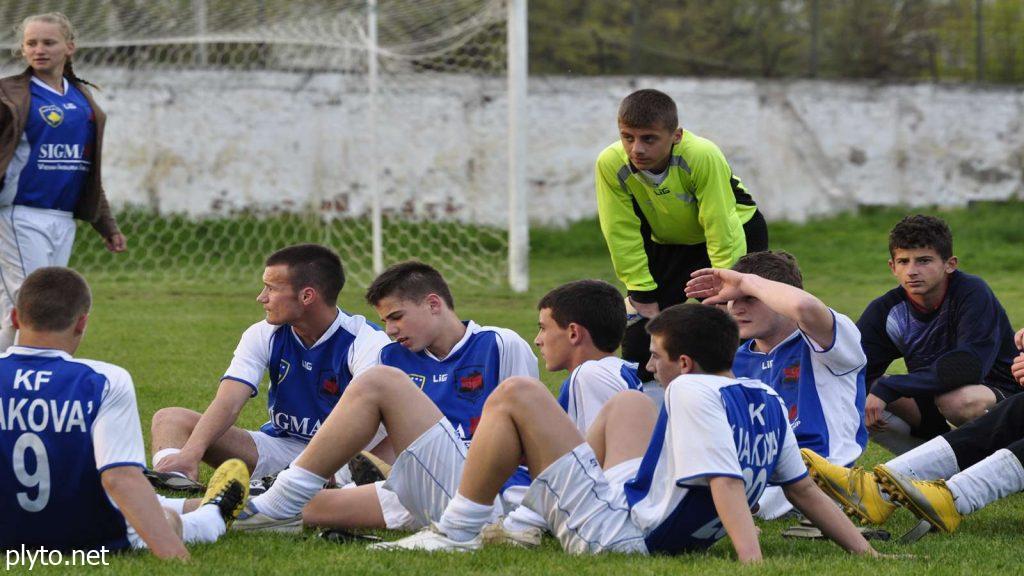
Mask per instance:
[[[291,467],[266,493],[253,498],[237,526],[255,527],[257,523],[247,520],[254,513],[281,520],[297,516],[328,478],[366,448],[382,423],[400,453],[442,418],[404,372],[387,366],[367,370],[349,383]]]

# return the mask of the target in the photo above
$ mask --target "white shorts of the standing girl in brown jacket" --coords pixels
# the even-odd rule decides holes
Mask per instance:
[[[43,266],[66,266],[75,244],[71,212],[5,206],[0,208],[0,328],[12,326],[17,291],[26,277]]]

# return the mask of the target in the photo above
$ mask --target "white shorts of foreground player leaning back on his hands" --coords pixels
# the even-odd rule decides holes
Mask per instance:
[[[581,444],[534,480],[522,504],[544,517],[568,553],[647,553],[623,490],[640,460],[602,470],[590,445]]]

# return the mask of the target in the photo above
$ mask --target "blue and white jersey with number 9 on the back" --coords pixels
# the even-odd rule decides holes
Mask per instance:
[[[144,461],[124,369],[55,349],[0,356],[0,549],[127,548],[99,477]]]

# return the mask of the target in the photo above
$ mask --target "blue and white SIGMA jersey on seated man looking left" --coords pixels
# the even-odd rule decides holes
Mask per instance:
[[[223,378],[259,393],[263,372],[270,372],[267,411],[260,427],[272,437],[308,441],[338,403],[348,383],[377,365],[391,340],[361,316],[338,308],[338,317],[312,346],[306,347],[288,324],[257,322],[242,334]]]

